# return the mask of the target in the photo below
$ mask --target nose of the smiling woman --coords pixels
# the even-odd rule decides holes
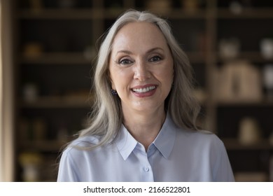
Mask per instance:
[[[145,81],[151,78],[151,71],[148,69],[148,64],[145,61],[139,61],[134,67],[134,79]]]

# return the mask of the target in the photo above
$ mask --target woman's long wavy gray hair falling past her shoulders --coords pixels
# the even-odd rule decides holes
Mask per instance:
[[[174,59],[174,83],[165,100],[165,111],[169,113],[178,127],[197,130],[195,121],[200,112],[200,105],[193,96],[193,68],[185,52],[179,47],[166,20],[137,10],[127,10],[116,20],[104,37],[94,72],[93,106],[90,124],[80,132],[79,137],[96,135],[101,137],[99,144],[107,144],[115,138],[123,123],[120,98],[111,94],[109,76],[109,57],[113,38],[117,32],[130,22],[150,22],[156,25],[167,40]]]

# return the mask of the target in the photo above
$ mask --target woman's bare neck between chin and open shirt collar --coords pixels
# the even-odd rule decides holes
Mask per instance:
[[[164,110],[151,113],[127,113],[123,111],[123,124],[134,139],[144,145],[146,150],[158,136],[165,118]]]

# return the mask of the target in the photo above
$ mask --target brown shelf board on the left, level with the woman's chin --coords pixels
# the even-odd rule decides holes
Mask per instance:
[[[88,97],[38,97],[34,101],[21,103],[22,109],[73,109],[89,107],[90,98]]]

